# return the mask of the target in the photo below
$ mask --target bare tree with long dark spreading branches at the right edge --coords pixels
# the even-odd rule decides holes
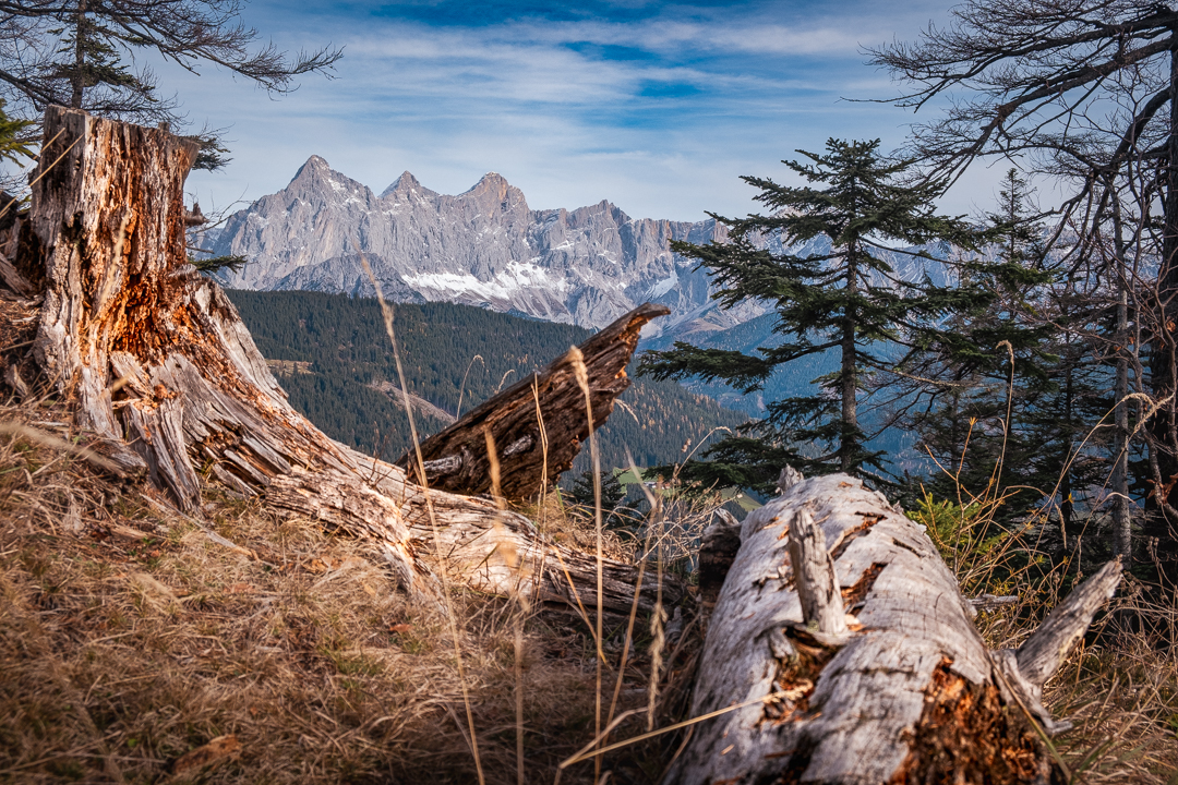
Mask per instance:
[[[1140,0],[967,0],[915,44],[871,52],[908,89],[893,102],[942,109],[914,126],[932,175],[954,179],[981,158],[1020,158],[1078,184],[1057,238],[1074,232],[1077,277],[1119,287],[1112,341],[1117,391],[1130,390],[1133,330],[1147,342],[1137,370],[1156,415],[1147,443],[1159,518],[1178,524],[1178,11]],[[1133,228],[1129,228],[1133,227]],[[1132,260],[1132,264],[1130,264]],[[1091,286],[1090,281],[1090,286]],[[1098,287],[1099,288],[1099,287]],[[1130,313],[1134,319],[1130,319]],[[1138,344],[1134,344],[1134,348]],[[1123,404],[1123,408],[1127,404]],[[1146,412],[1149,413],[1149,412]],[[1127,415],[1127,414],[1126,414]],[[1125,452],[1127,423],[1114,443]],[[1114,491],[1127,492],[1123,459]],[[1114,544],[1127,548],[1118,508]],[[1169,519],[1169,520],[1166,520]],[[1123,551],[1124,552],[1124,551]]]

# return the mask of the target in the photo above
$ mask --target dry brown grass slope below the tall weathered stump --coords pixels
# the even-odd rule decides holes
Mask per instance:
[[[0,420],[72,435],[48,405]],[[375,548],[211,492],[205,521],[251,557],[45,443],[0,434],[0,781],[172,781],[178,757],[225,734],[239,753],[199,781],[474,781],[445,618],[398,593]],[[515,781],[517,610],[455,603],[488,781]],[[525,771],[551,781],[593,737],[594,646],[544,612],[521,651]],[[646,705],[641,652],[622,709]],[[653,781],[661,744],[607,769]]]

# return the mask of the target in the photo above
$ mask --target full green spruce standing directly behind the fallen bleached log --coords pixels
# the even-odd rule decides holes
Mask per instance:
[[[939,318],[962,307],[975,293],[935,287],[927,278],[904,280],[881,258],[882,242],[968,245],[972,233],[961,221],[935,213],[937,184],[904,184],[911,162],[884,158],[879,145],[879,140],[830,139],[822,154],[798,151],[806,160],[783,164],[814,185],[742,178],[760,189],[755,199],[772,211],[768,215],[729,219],[713,214],[728,227],[728,241],[674,245],[713,272],[719,286],[714,297],[722,307],[746,299],[772,304],[775,333],[785,340],[760,347],[755,354],[676,342],[671,350],[648,352],[642,373],[721,381],[749,394],[760,391],[775,371],[801,358],[822,352],[839,358],[838,371],[814,380],[814,394],[773,401],[763,420],[717,443],[704,453],[712,460],[689,466],[688,477],[770,491],[788,464],[805,473],[843,471],[884,480],[886,460],[866,446],[869,434],[859,417],[869,377],[891,372],[898,346],[934,328]],[[766,247],[774,238],[787,248],[783,253]],[[788,250],[821,238],[828,241],[828,251]]]

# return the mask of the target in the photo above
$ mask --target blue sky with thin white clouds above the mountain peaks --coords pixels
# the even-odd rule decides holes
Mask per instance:
[[[335,79],[271,99],[217,68],[160,68],[233,162],[188,191],[224,208],[282,188],[312,154],[379,192],[403,171],[461,193],[488,171],[534,208],[609,199],[635,218],[755,209],[741,174],[828,137],[902,142],[913,115],[845,99],[894,95],[865,46],[913,39],[945,4],[254,0],[244,20],[284,49],[344,46]],[[918,118],[919,119],[919,118]],[[986,207],[997,172],[949,194]]]

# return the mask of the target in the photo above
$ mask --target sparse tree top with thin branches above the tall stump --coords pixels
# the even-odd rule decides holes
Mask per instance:
[[[155,74],[137,53],[157,53],[190,72],[214,65],[271,93],[325,73],[342,51],[287,56],[256,47],[241,0],[0,0],[0,98],[9,115],[39,120],[51,104],[139,124],[185,125],[174,98],[158,93]],[[216,134],[201,134],[201,168],[225,161]]]

